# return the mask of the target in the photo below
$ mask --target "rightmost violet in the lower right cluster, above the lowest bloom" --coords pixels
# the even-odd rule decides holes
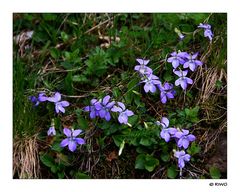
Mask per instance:
[[[193,134],[189,134],[189,131],[186,129],[176,132],[174,137],[178,139],[178,147],[183,147],[184,149],[187,149],[189,143],[196,139],[196,137]]]

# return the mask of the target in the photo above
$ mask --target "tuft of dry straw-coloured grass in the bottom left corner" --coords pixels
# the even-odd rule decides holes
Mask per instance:
[[[13,176],[19,179],[38,179],[41,177],[36,135],[14,139]]]

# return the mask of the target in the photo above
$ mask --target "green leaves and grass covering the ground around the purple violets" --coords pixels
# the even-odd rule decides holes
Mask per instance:
[[[211,43],[200,23],[212,26]],[[197,138],[182,178],[226,178],[227,170],[208,162],[227,131],[226,14],[15,13],[13,33],[14,178],[179,178],[176,146],[160,138],[155,123],[162,117]],[[187,91],[175,86],[175,98],[162,104],[159,94],[138,84],[136,58],[149,59],[154,74],[174,84],[167,58],[178,50],[199,52],[203,66],[190,73],[194,84]],[[64,114],[56,114],[51,103],[34,106],[29,100],[56,91],[70,103]],[[107,122],[84,112],[91,99],[106,95],[134,112],[130,125],[120,124],[117,113]],[[52,124],[54,137],[47,136]],[[86,144],[74,153],[59,146],[64,127],[84,131]]]

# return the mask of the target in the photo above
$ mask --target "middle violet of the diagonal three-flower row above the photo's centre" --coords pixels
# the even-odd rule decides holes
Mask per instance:
[[[145,83],[144,91],[148,93],[149,91],[152,93],[156,92],[156,85],[161,84],[159,78],[156,75],[150,74],[144,77],[145,79],[141,83]]]

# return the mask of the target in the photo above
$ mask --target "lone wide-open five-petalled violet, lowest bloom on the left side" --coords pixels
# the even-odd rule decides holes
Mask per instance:
[[[63,133],[67,136],[66,139],[63,139],[60,143],[61,147],[66,147],[68,145],[68,149],[72,152],[74,152],[77,149],[77,145],[83,145],[85,144],[85,140],[82,138],[77,137],[82,130],[70,130],[68,128],[63,129]]]

